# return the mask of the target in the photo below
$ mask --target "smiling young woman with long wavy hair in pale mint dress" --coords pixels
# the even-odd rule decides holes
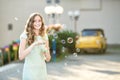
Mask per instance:
[[[51,59],[43,18],[33,13],[20,36],[19,59],[23,60],[23,80],[47,80],[46,63]]]

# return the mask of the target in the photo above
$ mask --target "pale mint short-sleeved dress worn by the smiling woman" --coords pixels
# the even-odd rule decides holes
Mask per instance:
[[[22,33],[20,39],[27,38],[25,33]],[[43,39],[41,36],[36,36],[35,40]],[[48,40],[46,35],[44,39]],[[23,67],[23,80],[47,80],[47,70],[43,51],[45,45],[35,46],[29,55],[26,56]]]

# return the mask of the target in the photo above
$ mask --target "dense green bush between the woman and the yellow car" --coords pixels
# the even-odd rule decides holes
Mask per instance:
[[[75,52],[75,37],[77,33],[64,30],[62,32],[57,33],[57,38],[53,35],[49,35],[49,45],[50,45],[50,52],[52,54],[52,39],[56,40],[56,56],[58,59],[63,59],[65,55],[69,53]],[[68,38],[72,39],[72,42],[68,42]],[[64,42],[62,42],[64,41]],[[65,52],[62,49],[65,48]]]

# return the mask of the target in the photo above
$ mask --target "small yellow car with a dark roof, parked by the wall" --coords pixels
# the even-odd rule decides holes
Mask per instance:
[[[82,53],[104,53],[107,43],[103,29],[83,29],[76,40],[75,48]]]

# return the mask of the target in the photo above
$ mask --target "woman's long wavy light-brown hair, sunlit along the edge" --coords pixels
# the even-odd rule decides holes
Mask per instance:
[[[39,35],[42,37],[45,35],[45,26],[44,26],[42,16],[39,13],[32,13],[30,17],[28,18],[26,25],[25,25],[25,32],[27,33],[27,44],[28,45],[31,45],[35,40],[35,32],[33,30],[34,29],[33,23],[34,23],[34,18],[36,16],[39,16],[42,21],[41,28],[39,29]]]

